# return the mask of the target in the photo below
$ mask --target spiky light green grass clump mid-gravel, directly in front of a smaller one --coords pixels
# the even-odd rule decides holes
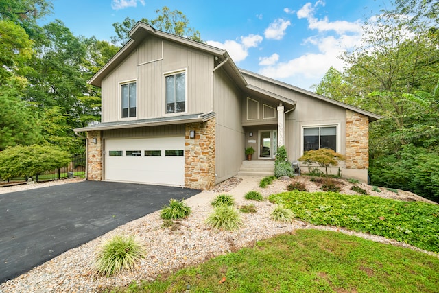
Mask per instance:
[[[206,219],[206,224],[227,231],[237,231],[242,220],[237,209],[223,204],[215,207],[215,211]]]

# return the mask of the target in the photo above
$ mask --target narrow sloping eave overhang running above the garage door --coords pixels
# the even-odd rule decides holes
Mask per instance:
[[[187,124],[195,122],[206,122],[216,116],[215,112],[206,112],[191,115],[178,115],[169,117],[158,117],[151,119],[139,119],[128,121],[103,122],[92,126],[73,129],[75,132],[97,131],[97,130],[112,130],[124,128],[138,128],[147,126],[163,126],[175,124]]]

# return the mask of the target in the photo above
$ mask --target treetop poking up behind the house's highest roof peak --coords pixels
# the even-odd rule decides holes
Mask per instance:
[[[141,19],[140,21],[151,25],[157,30],[163,32],[169,32],[171,34],[176,34],[177,36],[184,36],[191,40],[202,42],[200,32],[198,30],[189,27],[189,20],[179,10],[169,10],[167,6],[163,6],[160,10],[156,10],[158,16],[155,19]],[[128,33],[134,27],[137,21],[127,17],[122,23],[113,23],[112,26],[115,27],[115,32],[117,36],[112,36],[111,41],[113,44],[125,44],[130,40]]]

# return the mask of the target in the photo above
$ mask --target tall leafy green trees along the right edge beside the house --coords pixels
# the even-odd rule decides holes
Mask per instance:
[[[424,0],[412,2],[437,8],[433,1],[427,6]],[[401,7],[384,11],[364,25],[363,45],[342,56],[347,64],[342,80],[354,91],[353,104],[383,116],[370,124],[372,184],[439,200],[437,177],[428,181],[419,173],[431,174],[428,161],[437,164],[439,47],[432,25],[437,18],[431,11],[405,14],[409,11],[414,12]]]

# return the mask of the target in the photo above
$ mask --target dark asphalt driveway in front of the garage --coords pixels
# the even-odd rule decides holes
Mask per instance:
[[[181,187],[82,181],[0,194],[0,283],[161,209]]]

